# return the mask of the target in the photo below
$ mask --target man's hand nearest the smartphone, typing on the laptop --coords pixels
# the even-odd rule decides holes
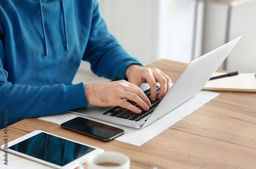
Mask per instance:
[[[125,98],[134,101],[144,110],[148,110],[151,107],[150,100],[141,88],[125,80],[87,84],[84,85],[84,89],[88,105],[100,107],[120,106],[140,114],[141,110],[123,100]]]

